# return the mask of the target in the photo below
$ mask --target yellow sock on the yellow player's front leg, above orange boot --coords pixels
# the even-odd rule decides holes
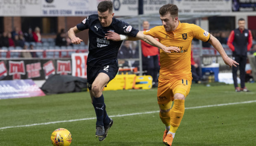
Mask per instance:
[[[174,100],[173,107],[171,109],[171,128],[170,132],[175,133],[178,129],[180,122],[185,112],[185,100]]]

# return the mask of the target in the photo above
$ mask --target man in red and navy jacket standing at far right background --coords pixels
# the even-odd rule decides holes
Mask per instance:
[[[248,92],[245,87],[245,65],[247,62],[247,51],[250,50],[252,45],[251,31],[244,28],[245,20],[240,18],[238,20],[238,28],[232,30],[228,37],[228,46],[232,50],[233,59],[239,63],[241,89],[237,85],[237,67],[232,66],[232,74],[234,80],[235,91]]]

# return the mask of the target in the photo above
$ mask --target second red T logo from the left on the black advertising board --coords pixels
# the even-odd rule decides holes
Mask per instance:
[[[9,61],[9,75],[13,75],[12,79],[21,79],[21,75],[25,75],[24,61],[13,62]]]

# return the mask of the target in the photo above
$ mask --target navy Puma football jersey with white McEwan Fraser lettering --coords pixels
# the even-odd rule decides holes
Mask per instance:
[[[113,31],[118,34],[125,34],[135,37],[139,30],[134,29],[128,23],[112,19],[108,27],[102,27],[97,14],[85,18],[81,23],[76,25],[78,30],[89,29],[89,54],[87,65],[105,66],[118,65],[117,53],[122,41],[110,41],[104,38],[107,31]]]

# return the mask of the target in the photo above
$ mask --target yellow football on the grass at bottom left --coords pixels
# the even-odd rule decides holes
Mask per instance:
[[[51,140],[54,146],[69,146],[72,141],[72,136],[69,130],[59,128],[52,132]]]

